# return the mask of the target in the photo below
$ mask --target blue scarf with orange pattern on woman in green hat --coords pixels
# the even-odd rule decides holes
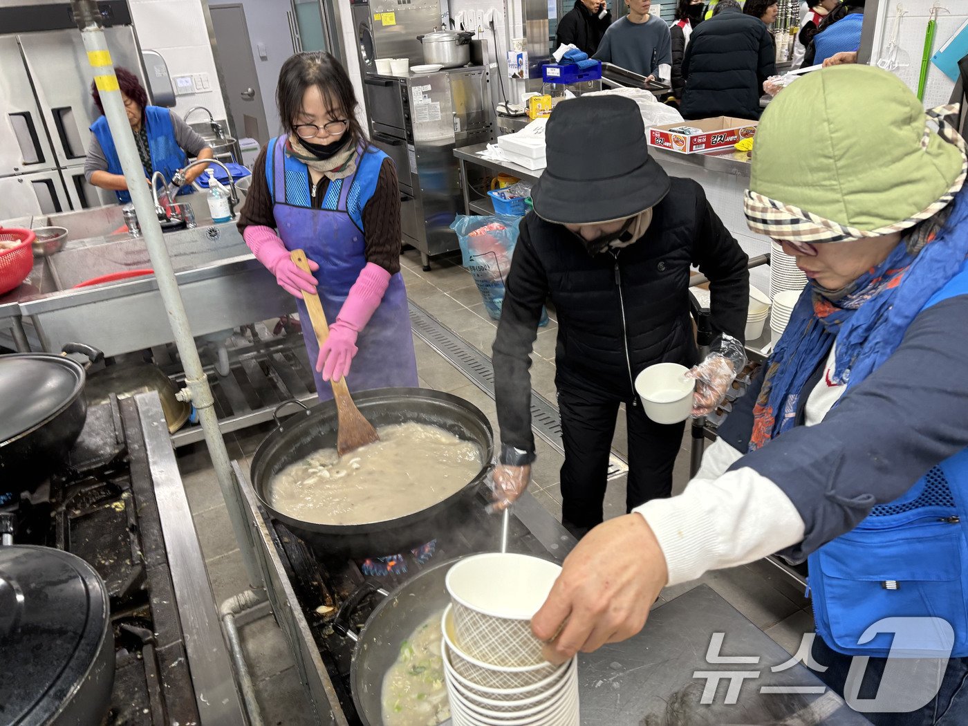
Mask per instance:
[[[860,383],[892,355],[911,321],[968,257],[968,234],[957,232],[966,224],[968,193],[962,192],[850,287],[832,292],[811,283],[804,288],[766,363],[753,408],[750,451],[794,427],[803,388],[834,341],[832,382],[840,385]]]

